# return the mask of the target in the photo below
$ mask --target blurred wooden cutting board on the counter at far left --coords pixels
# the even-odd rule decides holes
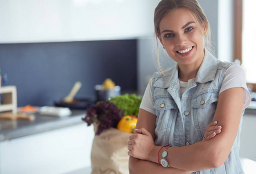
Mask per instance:
[[[0,113],[0,119],[25,119],[28,121],[33,121],[35,119],[35,115],[25,114],[25,113],[12,113],[12,112],[5,112]]]

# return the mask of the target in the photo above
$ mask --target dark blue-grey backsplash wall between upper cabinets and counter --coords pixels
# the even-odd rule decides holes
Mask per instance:
[[[136,90],[136,40],[0,44],[1,74],[17,86],[18,106],[52,106],[76,81],[77,97],[95,97],[94,86],[111,78]]]

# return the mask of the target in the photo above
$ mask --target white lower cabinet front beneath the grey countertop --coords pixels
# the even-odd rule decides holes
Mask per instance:
[[[91,166],[93,126],[78,124],[0,142],[0,173],[67,173]]]

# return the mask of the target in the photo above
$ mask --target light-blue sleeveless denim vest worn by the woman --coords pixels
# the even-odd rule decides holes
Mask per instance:
[[[206,126],[214,117],[223,77],[232,64],[219,61],[206,50],[196,78],[188,84],[182,97],[179,95],[178,65],[164,74],[154,73],[152,96],[157,117],[157,146],[179,147],[201,142]],[[226,162],[219,168],[196,173],[244,173],[239,158],[241,124],[242,118]]]

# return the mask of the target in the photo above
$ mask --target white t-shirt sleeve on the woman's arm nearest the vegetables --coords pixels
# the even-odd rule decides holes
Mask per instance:
[[[149,84],[147,84],[147,88],[142,97],[142,101],[140,103],[140,107],[143,110],[146,110],[154,115],[156,115],[156,110],[154,109],[154,102],[152,98],[152,79],[150,79]]]

